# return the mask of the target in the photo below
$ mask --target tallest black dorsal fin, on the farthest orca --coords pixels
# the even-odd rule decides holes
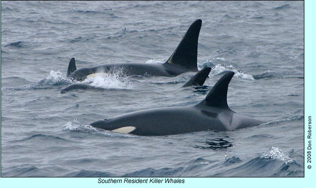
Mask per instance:
[[[197,41],[202,20],[194,21],[166,63],[197,71]]]

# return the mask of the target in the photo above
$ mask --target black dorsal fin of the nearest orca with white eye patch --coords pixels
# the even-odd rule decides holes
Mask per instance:
[[[228,72],[224,76],[221,77],[220,80],[216,82],[216,84],[210,89],[205,100],[203,100],[200,104],[206,104],[209,107],[217,107],[226,109],[229,108],[227,105],[227,89],[228,84],[235,72]]]

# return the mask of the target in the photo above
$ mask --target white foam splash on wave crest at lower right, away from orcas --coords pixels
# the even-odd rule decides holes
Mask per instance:
[[[271,147],[267,152],[262,153],[261,158],[265,159],[279,159],[284,161],[285,163],[292,163],[294,159],[289,157],[289,153],[287,151],[283,151],[278,147]]]

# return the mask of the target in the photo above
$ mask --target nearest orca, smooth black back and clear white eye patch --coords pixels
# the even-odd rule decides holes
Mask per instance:
[[[118,133],[160,136],[206,130],[231,131],[264,123],[237,114],[228,107],[227,90],[233,75],[234,72],[228,72],[222,76],[206,98],[195,106],[138,111],[90,125]]]

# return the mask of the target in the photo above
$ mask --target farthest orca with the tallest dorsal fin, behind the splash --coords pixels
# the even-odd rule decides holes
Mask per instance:
[[[176,76],[184,72],[196,72],[197,43],[201,25],[201,20],[191,24],[176,50],[164,64],[117,63],[77,70],[75,58],[72,58],[68,65],[67,77],[80,81],[86,79],[89,74],[111,72],[115,69],[123,70],[124,75]]]

